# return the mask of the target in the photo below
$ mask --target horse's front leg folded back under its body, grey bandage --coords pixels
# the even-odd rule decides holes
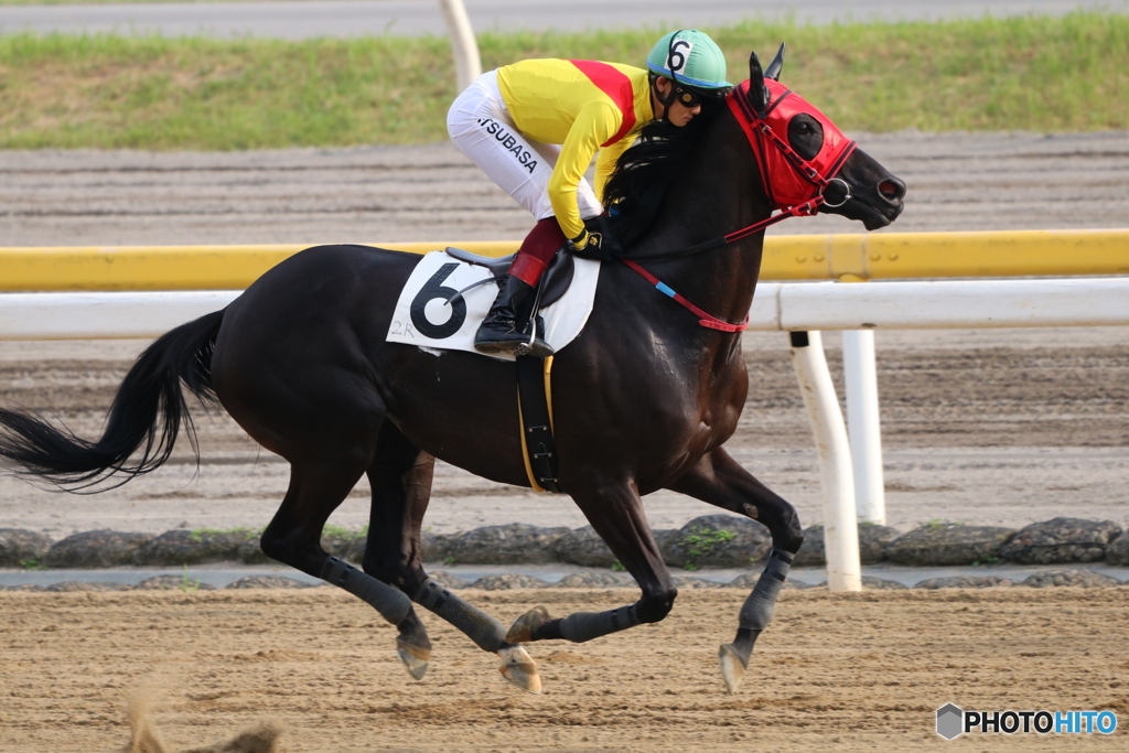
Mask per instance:
[[[645,622],[658,622],[674,606],[679,592],[651,536],[634,482],[590,480],[570,493],[592,527],[634,577],[642,596],[634,604],[606,612],[575,612],[555,620],[539,606],[514,622],[506,634],[510,642],[564,639],[581,643]]]

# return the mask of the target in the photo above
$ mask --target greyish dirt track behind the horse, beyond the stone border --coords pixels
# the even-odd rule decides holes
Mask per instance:
[[[896,133],[863,147],[909,185],[896,231],[1097,228],[1129,224],[1129,132],[1042,137]],[[449,146],[250,154],[0,152],[0,246],[519,237],[524,210]],[[835,217],[773,231],[860,231]],[[825,338],[832,369],[838,338]],[[890,523],[1024,525],[1056,515],[1129,523],[1129,331],[877,333]],[[143,343],[0,342],[0,405],[24,404],[90,436]],[[749,403],[729,449],[821,519],[819,473],[779,334],[746,336]],[[53,536],[97,527],[261,526],[287,469],[221,418],[199,474],[180,464],[96,498],[0,479],[0,525]],[[364,482],[362,482],[364,483]],[[332,523],[365,523],[355,491]],[[711,513],[648,498],[660,527]],[[567,499],[444,466],[427,525],[579,526]]]

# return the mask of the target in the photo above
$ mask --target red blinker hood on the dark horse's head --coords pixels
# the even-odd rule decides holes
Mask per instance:
[[[765,195],[778,209],[788,210],[821,195],[857,145],[795,91],[769,78],[764,87],[769,105],[763,119],[749,102],[749,81],[735,87],[726,102],[756,156]],[[823,126],[823,146],[809,160],[788,145],[788,122],[799,113],[811,115]]]

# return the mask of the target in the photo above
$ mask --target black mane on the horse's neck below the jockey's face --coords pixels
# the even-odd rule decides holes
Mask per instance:
[[[624,248],[650,228],[686,157],[724,108],[723,102],[703,100],[702,112],[683,128],[654,120],[620,157],[604,186],[604,205],[611,210],[615,238]]]

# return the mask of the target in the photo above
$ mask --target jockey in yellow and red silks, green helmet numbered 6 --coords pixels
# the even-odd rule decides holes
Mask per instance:
[[[615,242],[596,218],[620,155],[649,121],[683,126],[702,97],[724,96],[725,56],[706,34],[667,34],[647,70],[584,60],[524,60],[483,73],[452,104],[447,131],[458,149],[537,219],[474,338],[495,353],[528,341],[520,332],[541,275],[564,245],[610,255]],[[584,177],[596,156],[595,191]],[[589,233],[589,230],[592,233]],[[540,338],[531,354],[550,356]]]

